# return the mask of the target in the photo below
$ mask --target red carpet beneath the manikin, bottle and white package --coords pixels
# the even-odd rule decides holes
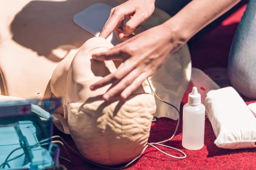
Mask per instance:
[[[227,18],[214,31],[198,41],[189,44],[193,67],[204,70],[209,67],[227,67],[229,49],[232,39],[236,31],[236,27],[240,18],[245,11],[245,6],[236,13]],[[187,93],[182,99],[182,106],[187,102]],[[247,104],[253,102],[245,98]],[[256,100],[254,101],[256,102]],[[181,109],[182,110],[182,109]],[[177,135],[173,140],[166,142],[168,146],[179,148],[187,155],[186,159],[178,160],[163,155],[155,148],[148,147],[141,158],[132,164],[127,170],[156,170],[156,169],[256,169],[256,148],[253,149],[238,149],[228,150],[218,148],[213,142],[216,139],[211,123],[206,118],[205,120],[205,139],[204,147],[200,150],[191,151],[182,147],[182,121],[180,122]],[[177,121],[167,118],[157,119],[153,122],[150,131],[149,142],[159,142],[168,139],[173,134]],[[75,148],[74,142],[69,135],[55,130],[55,134],[60,134],[64,137],[68,144]],[[179,153],[173,150],[168,150],[162,146],[160,149],[167,153]],[[68,170],[90,170],[101,169],[86,163],[76,154],[69,152],[74,160],[69,163],[60,159],[60,164],[67,167]],[[64,150],[61,150],[61,156],[67,157]]]

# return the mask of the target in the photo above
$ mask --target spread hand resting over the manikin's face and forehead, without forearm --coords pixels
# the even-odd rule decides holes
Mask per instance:
[[[90,88],[95,90],[112,83],[103,99],[109,100],[118,95],[127,98],[146,78],[157,71],[172,52],[185,43],[176,39],[175,35],[164,25],[159,25],[118,44],[109,51],[93,54],[92,58],[99,61],[122,60],[124,63],[121,63],[116,72],[108,74]]]

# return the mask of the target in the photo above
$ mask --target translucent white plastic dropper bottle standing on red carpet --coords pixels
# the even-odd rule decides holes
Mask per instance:
[[[193,87],[189,102],[183,107],[182,146],[198,150],[204,146],[205,107],[198,89]]]

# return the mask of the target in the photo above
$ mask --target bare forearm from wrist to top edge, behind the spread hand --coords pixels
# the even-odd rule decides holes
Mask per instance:
[[[178,41],[186,42],[202,28],[234,7],[240,0],[192,0],[163,26]]]

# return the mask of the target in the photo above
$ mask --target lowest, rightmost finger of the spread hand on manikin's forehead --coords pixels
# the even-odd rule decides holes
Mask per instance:
[[[146,78],[148,78],[148,74],[146,74],[146,72],[140,74],[128,87],[126,87],[126,89],[124,89],[123,92],[121,92],[121,98],[126,99],[130,96],[132,92],[139,88]]]

